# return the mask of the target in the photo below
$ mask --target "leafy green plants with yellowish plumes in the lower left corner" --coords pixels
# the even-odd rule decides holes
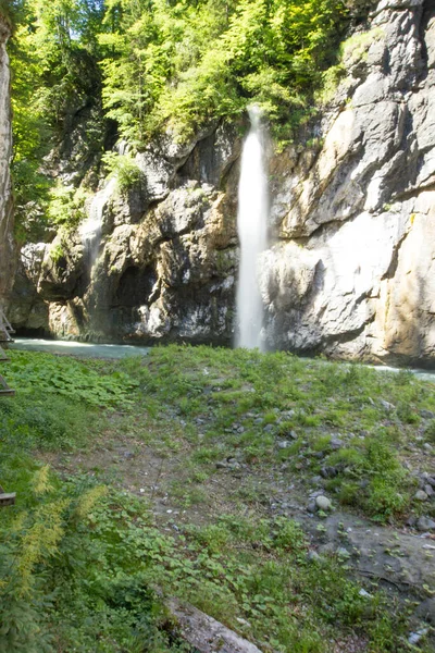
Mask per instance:
[[[0,523],[0,651],[186,650],[160,628],[147,586],[146,508],[79,478],[60,482],[27,457],[16,463],[3,467],[18,505]]]

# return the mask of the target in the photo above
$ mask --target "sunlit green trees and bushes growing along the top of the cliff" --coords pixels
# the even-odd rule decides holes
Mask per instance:
[[[44,223],[76,222],[67,196],[80,183],[95,188],[108,130],[140,150],[156,135],[188,140],[258,103],[284,145],[312,115],[313,91],[348,24],[343,0],[13,0],[10,8],[22,241],[39,238]],[[110,157],[124,193],[139,171],[129,157]],[[64,188],[55,184],[62,160],[75,175]]]

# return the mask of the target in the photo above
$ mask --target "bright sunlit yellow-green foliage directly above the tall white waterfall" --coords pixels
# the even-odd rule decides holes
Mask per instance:
[[[111,2],[99,37],[108,115],[139,144],[162,128],[185,140],[253,102],[279,130],[307,108],[346,15],[338,0]]]

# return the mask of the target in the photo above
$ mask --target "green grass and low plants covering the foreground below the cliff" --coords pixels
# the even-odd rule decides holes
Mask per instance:
[[[348,638],[371,652],[408,650],[409,611],[374,588],[362,593],[346,558],[310,557],[301,523],[264,506],[276,482],[307,496],[330,470],[334,505],[391,523],[418,515],[403,464],[410,444],[419,456],[434,441],[434,421],[421,417],[435,411],[432,384],[208,347],[122,361],[11,357],[17,394],[0,403],[0,481],[18,500],[2,513],[0,593],[15,640],[0,629],[0,651],[184,650],[156,588],[264,652],[328,653]],[[119,457],[116,473],[107,460],[130,442],[138,463],[126,481]],[[160,467],[151,494],[138,495],[125,486],[145,483],[144,452]],[[50,457],[60,472],[37,461]],[[166,515],[159,528],[152,502],[166,495],[170,513],[187,517]]]

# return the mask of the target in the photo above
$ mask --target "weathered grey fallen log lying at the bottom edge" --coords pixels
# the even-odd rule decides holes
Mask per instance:
[[[170,599],[166,607],[181,637],[200,653],[261,653],[254,644],[188,603]]]

